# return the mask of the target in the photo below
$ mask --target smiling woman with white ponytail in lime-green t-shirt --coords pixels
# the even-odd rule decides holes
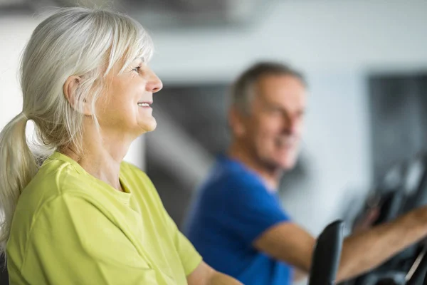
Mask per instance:
[[[122,162],[156,128],[151,54],[142,26],[111,11],[62,9],[33,31],[23,111],[0,134],[11,284],[239,284],[202,261],[147,175]]]

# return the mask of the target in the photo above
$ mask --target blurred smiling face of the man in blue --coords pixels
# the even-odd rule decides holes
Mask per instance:
[[[295,165],[306,106],[305,86],[288,75],[261,77],[254,86],[250,113],[243,117],[243,140],[255,160],[270,170]]]

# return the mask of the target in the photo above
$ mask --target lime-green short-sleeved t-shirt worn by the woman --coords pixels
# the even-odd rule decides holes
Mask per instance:
[[[59,152],[19,197],[11,284],[186,284],[201,262],[144,172],[123,162],[125,192]]]

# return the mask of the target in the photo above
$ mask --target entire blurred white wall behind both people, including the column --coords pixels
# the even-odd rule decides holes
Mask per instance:
[[[314,171],[285,205],[317,234],[371,182],[366,72],[426,67],[426,12],[425,0],[273,1],[246,28],[156,31],[152,66],[165,83],[231,81],[258,58],[305,71],[305,148]],[[0,128],[21,110],[17,58],[36,22],[0,19]]]

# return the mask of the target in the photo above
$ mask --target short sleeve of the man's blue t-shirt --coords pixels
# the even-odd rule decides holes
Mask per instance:
[[[221,209],[214,211],[216,222],[224,232],[241,238],[247,245],[253,244],[268,228],[289,221],[278,198],[258,181],[234,177],[220,192],[214,197],[221,199],[214,202],[221,204]]]

